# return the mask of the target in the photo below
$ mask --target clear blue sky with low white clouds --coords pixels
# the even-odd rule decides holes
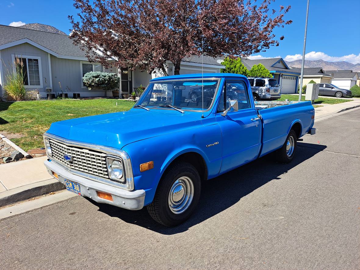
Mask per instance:
[[[77,14],[72,4],[72,0],[0,0],[0,24],[42,23],[69,33],[71,24],[67,16]],[[271,8],[291,5],[284,19],[293,23],[275,29],[277,37],[285,36],[278,47],[249,58],[301,59],[306,4],[306,0],[276,0]],[[360,63],[359,4],[359,0],[310,0],[305,59]]]

